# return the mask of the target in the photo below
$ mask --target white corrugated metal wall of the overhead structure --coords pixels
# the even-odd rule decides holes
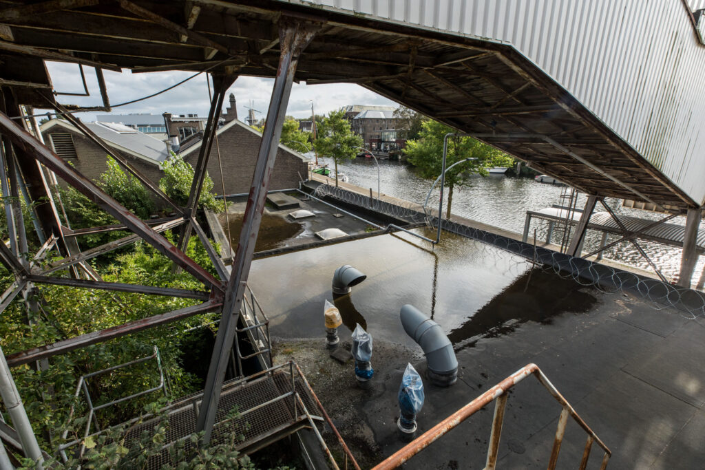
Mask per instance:
[[[281,1],[512,44],[705,202],[705,47],[682,0]]]

